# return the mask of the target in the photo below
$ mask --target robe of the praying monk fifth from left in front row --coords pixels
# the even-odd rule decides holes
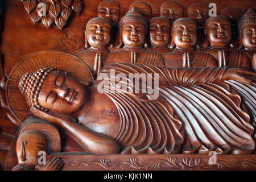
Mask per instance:
[[[234,68],[245,68],[251,69],[251,61],[249,58],[240,50],[237,49],[213,49],[213,48],[206,48],[202,49],[201,51],[210,53],[216,60],[218,60],[218,51],[224,50],[225,57],[226,57],[226,64],[227,67],[234,67]]]

